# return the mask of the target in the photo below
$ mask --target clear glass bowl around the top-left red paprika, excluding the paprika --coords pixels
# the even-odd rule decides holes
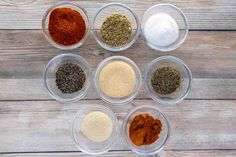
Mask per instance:
[[[86,31],[85,31],[84,37],[78,43],[75,43],[73,45],[62,45],[62,44],[59,44],[59,43],[55,42],[52,39],[52,37],[50,35],[50,32],[48,30],[48,24],[49,24],[50,14],[56,8],[71,8],[73,10],[78,11],[80,13],[80,15],[83,17],[83,19],[85,21]],[[43,16],[43,19],[42,19],[42,30],[43,30],[43,34],[44,34],[45,38],[47,39],[47,41],[51,45],[53,45],[54,47],[62,49],[62,50],[72,50],[72,49],[80,47],[84,43],[84,41],[85,41],[85,39],[87,37],[87,34],[89,32],[89,18],[88,18],[88,15],[87,15],[87,12],[85,11],[85,9],[83,7],[81,7],[80,5],[78,5],[77,3],[73,3],[73,2],[59,2],[59,3],[51,6],[45,12],[45,14]]]

